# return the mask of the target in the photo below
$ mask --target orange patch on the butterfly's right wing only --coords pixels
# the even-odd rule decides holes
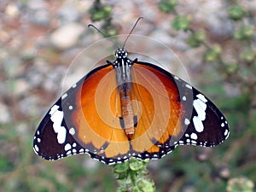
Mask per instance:
[[[140,82],[134,84],[134,93],[143,106],[136,131],[146,131],[152,143],[164,147],[170,137],[182,134],[183,108],[177,85],[159,70],[138,63],[132,67],[132,78]]]

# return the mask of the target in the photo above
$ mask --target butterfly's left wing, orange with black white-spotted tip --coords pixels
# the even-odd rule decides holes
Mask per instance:
[[[101,101],[102,97],[106,97],[104,93],[115,86],[111,64],[97,67],[74,84],[55,102],[38,125],[33,140],[35,153],[46,160],[59,160],[68,155],[84,153],[102,160],[104,154],[98,154],[108,147],[110,140],[127,141],[121,129],[112,129],[118,126],[118,117],[115,117],[118,114],[113,115],[117,111],[114,108],[118,106],[113,105],[113,113],[109,113],[104,111],[107,102]],[[117,94],[115,89],[112,91],[115,103]],[[105,116],[100,117],[97,110]],[[108,119],[107,122],[104,119]],[[115,161],[117,158],[104,160],[106,163]]]

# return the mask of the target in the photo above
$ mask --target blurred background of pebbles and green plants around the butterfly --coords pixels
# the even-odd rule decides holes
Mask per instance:
[[[191,84],[230,123],[229,139],[216,148],[183,146],[152,160],[148,177],[156,191],[253,191],[255,5],[255,0],[0,0],[0,191],[116,191],[111,166],[86,154],[42,160],[32,140],[44,113],[67,90],[63,79],[72,61],[102,39],[87,25],[93,23],[108,36],[126,34],[141,15],[133,33],[172,49]],[[93,51],[92,59],[101,54],[101,49]],[[168,52],[162,56],[168,58]],[[73,67],[67,79],[76,82],[86,74],[80,69],[94,64]],[[180,73],[179,67],[171,68]]]

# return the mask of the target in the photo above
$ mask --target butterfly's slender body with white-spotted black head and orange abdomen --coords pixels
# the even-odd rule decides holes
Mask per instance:
[[[133,61],[128,59],[126,49],[119,48],[115,52],[116,60],[113,61],[113,67],[116,71],[116,81],[119,89],[121,117],[119,117],[120,126],[125,130],[125,134],[131,138],[135,133],[137,117],[134,115],[131,94],[132,77],[131,67]]]

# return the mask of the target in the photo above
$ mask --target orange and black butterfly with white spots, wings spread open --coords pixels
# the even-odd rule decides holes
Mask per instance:
[[[160,159],[179,145],[213,147],[229,135],[207,96],[162,67],[131,60],[123,46],[49,108],[33,149],[45,160],[89,154],[110,165]]]

